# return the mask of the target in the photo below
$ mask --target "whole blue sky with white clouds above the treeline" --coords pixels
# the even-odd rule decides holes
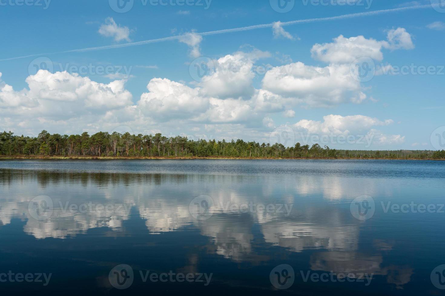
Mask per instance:
[[[0,0],[0,129],[442,149],[440,1]]]

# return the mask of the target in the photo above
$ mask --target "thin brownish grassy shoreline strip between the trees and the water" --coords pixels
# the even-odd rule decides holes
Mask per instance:
[[[433,159],[433,158],[264,158],[264,157],[230,157],[230,156],[222,156],[222,157],[198,157],[198,156],[119,156],[119,157],[110,157],[110,156],[61,156],[61,155],[53,155],[53,156],[41,156],[41,155],[0,155],[0,160],[199,160],[199,159],[220,159],[220,160],[445,160],[443,158]]]

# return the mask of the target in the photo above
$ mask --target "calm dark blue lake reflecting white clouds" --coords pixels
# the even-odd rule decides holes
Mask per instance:
[[[445,295],[444,189],[433,161],[4,160],[0,290]]]

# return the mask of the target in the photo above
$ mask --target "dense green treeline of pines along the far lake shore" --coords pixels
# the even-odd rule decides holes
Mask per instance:
[[[231,142],[189,140],[186,137],[167,138],[162,134],[132,135],[99,132],[89,135],[49,134],[43,130],[36,138],[15,136],[12,132],[0,134],[1,155],[42,156],[109,156],[109,157],[242,157],[242,158],[445,158],[445,151],[430,150],[336,150],[319,144],[284,147],[241,139]]]

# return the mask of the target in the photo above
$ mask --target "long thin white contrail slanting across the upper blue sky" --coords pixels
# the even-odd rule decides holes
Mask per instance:
[[[355,17],[360,17],[360,16],[375,16],[375,15],[389,13],[389,12],[400,12],[400,11],[405,11],[405,10],[432,8],[435,5],[436,4],[415,5],[415,6],[409,6],[409,7],[376,10],[376,11],[371,11],[371,12],[351,13],[351,14],[345,14],[343,16],[320,17],[320,18],[306,19],[306,20],[292,20],[289,22],[283,22],[283,23],[281,23],[281,25],[289,26],[289,25],[293,25],[293,24],[314,23],[314,22],[321,22],[321,21],[328,21],[328,20],[344,20],[344,19],[350,19],[350,18],[355,18]],[[225,33],[232,33],[232,32],[256,30],[256,29],[262,29],[262,28],[272,28],[273,25],[274,25],[274,23],[259,24],[259,25],[241,27],[241,28],[224,29],[224,30],[217,30],[217,31],[210,31],[210,32],[202,32],[202,33],[196,32],[196,34],[201,35],[201,36],[209,36],[209,35],[216,35],[216,34],[225,34]],[[138,41],[138,42],[129,42],[129,43],[123,43],[123,44],[114,44],[114,45],[106,45],[106,46],[98,46],[98,47],[87,47],[87,48],[73,49],[73,50],[68,50],[68,51],[58,51],[58,52],[52,52],[52,53],[24,55],[24,56],[18,56],[15,58],[0,59],[0,61],[8,61],[8,60],[12,60],[12,59],[23,59],[23,58],[29,58],[29,57],[34,57],[34,56],[40,56],[40,55],[54,55],[54,54],[69,53],[69,52],[97,51],[97,50],[105,50],[105,49],[112,49],[112,48],[137,46],[137,45],[144,45],[144,44],[149,44],[149,43],[158,43],[158,42],[163,42],[163,41],[176,40],[181,37],[182,37],[182,35],[178,35],[178,36],[164,37],[164,38],[159,38],[159,39],[150,39],[150,40],[144,40],[144,41]]]

